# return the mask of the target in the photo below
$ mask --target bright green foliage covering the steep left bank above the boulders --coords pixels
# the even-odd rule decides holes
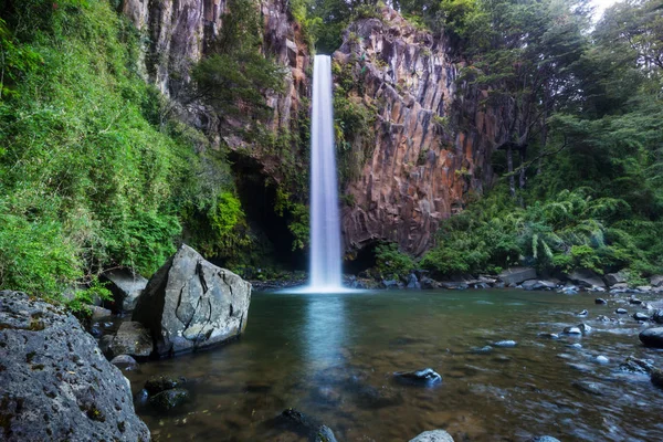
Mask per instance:
[[[224,159],[164,120],[106,1],[3,4],[0,286],[55,298],[105,266],[151,274],[229,188]]]

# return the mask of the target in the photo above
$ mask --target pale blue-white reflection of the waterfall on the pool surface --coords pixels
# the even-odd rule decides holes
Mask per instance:
[[[306,297],[306,319],[302,339],[305,364],[320,370],[340,360],[340,348],[347,344],[346,298],[343,295]]]

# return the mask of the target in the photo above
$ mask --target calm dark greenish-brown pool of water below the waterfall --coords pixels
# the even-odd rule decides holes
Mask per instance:
[[[254,293],[240,340],[144,364],[127,377],[134,392],[157,373],[189,379],[193,400],[178,413],[137,407],[156,441],[298,441],[270,424],[290,407],[323,421],[339,441],[409,441],[433,429],[456,442],[541,434],[663,441],[663,390],[646,375],[619,369],[628,356],[663,365],[663,352],[640,345],[646,326],[629,316],[644,311],[610,296],[608,305],[594,305],[594,297],[498,290]],[[618,306],[629,315],[615,315]],[[585,308],[589,316],[577,317]],[[585,336],[539,336],[582,322],[592,327]],[[517,345],[476,352],[504,339]],[[442,383],[393,381],[394,371],[424,367]],[[594,382],[598,391],[575,382]]]

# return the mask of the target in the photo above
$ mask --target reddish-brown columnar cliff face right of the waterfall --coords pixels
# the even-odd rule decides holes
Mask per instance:
[[[378,112],[372,156],[346,189],[354,201],[343,212],[346,251],[390,240],[421,255],[440,221],[493,179],[503,118],[482,108],[485,92],[456,82],[462,64],[445,44],[383,8],[380,19],[350,25],[334,54],[361,82],[355,99]]]

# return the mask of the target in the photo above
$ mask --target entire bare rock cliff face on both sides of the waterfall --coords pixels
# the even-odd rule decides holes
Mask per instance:
[[[287,0],[262,0],[260,8],[263,51],[287,66],[285,92],[267,96],[273,108],[269,124],[273,130],[296,130],[311,93],[309,50]],[[223,25],[225,9],[225,0],[124,0],[123,11],[151,42],[145,56],[149,81],[177,101],[190,80],[190,65],[206,55],[208,42]],[[346,183],[352,201],[343,212],[347,252],[389,240],[421,255],[433,244],[440,221],[462,210],[469,192],[481,192],[492,181],[490,157],[505,136],[505,118],[483,107],[485,91],[456,81],[463,66],[449,52],[443,39],[383,8],[381,18],[352,23],[334,54],[361,86],[351,98],[377,109],[369,129],[375,148],[359,166],[359,178]],[[188,105],[183,117],[214,139],[219,120],[204,106]],[[239,137],[224,141],[232,149],[246,147]],[[241,150],[262,173],[282,178],[277,154],[260,147]]]

